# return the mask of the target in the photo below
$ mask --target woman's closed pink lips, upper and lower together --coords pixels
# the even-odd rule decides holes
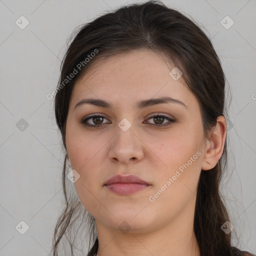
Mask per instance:
[[[109,178],[104,186],[114,193],[128,195],[143,190],[150,184],[135,175],[123,176],[117,174]]]

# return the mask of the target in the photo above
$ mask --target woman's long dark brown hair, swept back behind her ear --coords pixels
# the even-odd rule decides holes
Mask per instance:
[[[78,229],[83,227],[88,230],[90,251],[87,255],[92,256],[98,248],[94,218],[86,212],[77,196],[68,198],[66,192],[65,125],[70,95],[76,79],[100,56],[141,48],[163,52],[182,71],[183,79],[198,99],[204,135],[208,138],[209,131],[216,124],[217,116],[227,117],[225,77],[212,43],[202,29],[194,21],[160,1],[130,4],[105,13],[83,24],[71,37],[74,38],[71,38],[72,42],[61,63],[59,84],[74,72],[74,69],[78,74],[57,87],[54,101],[55,118],[65,152],[62,172],[65,208],[55,226],[52,249],[53,255],[58,255],[60,241],[65,236],[73,255],[75,239],[71,241],[68,234],[72,230],[71,227],[80,220],[80,225],[77,226]],[[86,56],[89,61],[84,61]],[[218,163],[211,170],[201,170],[200,173],[193,227],[201,256],[232,255],[230,233],[226,234],[220,228],[229,220],[219,191],[226,163],[225,141]]]

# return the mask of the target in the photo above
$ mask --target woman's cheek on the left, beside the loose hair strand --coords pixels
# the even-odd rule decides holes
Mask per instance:
[[[66,139],[67,152],[72,169],[79,173],[74,182],[78,198],[86,210],[95,214],[100,211],[97,198],[101,189],[100,158],[102,158],[102,143],[77,132],[69,133]]]

